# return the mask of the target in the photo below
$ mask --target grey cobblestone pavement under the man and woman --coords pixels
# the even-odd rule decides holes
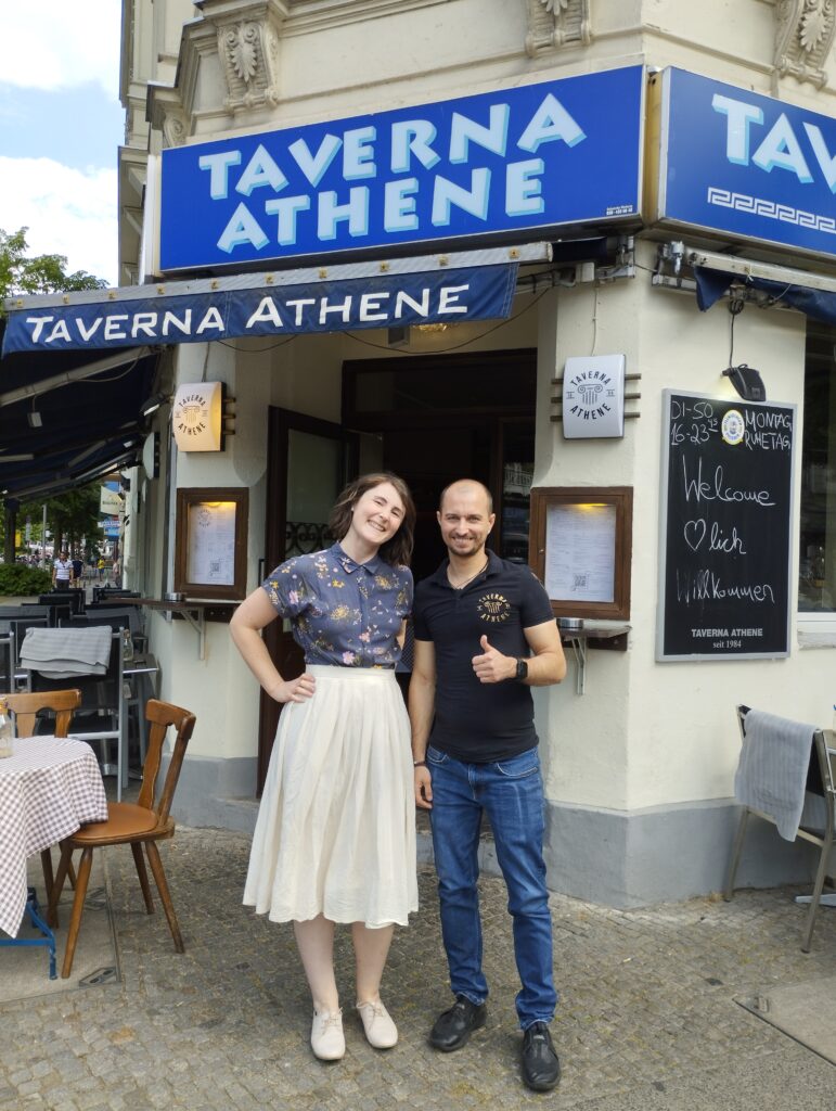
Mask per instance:
[[[363,1039],[343,929],[336,959],[348,1054],[322,1064],[308,1042],[309,997],[291,927],[240,903],[249,838],[180,829],[162,852],[187,952],[173,951],[161,910],[144,914],[130,853],[108,850],[122,981],[0,1008],[3,1111],[665,1108],[674,1105],[666,1092],[689,1085],[702,1094],[677,1108],[810,1111],[836,1102],[833,1065],[735,1002],[836,971],[836,912],[822,913],[804,955],[804,911],[787,890],[633,911],[553,897],[562,990],[553,1034],[564,1074],[556,1092],[538,1095],[518,1079],[516,980],[500,880],[483,880],[487,1027],[457,1053],[426,1044],[450,994],[433,875],[423,869],[421,912],[397,931],[383,985],[399,1045],[381,1053]],[[809,1075],[797,1102],[725,1098],[728,1078],[769,1078],[788,1065]],[[644,1090],[649,1098],[637,1099]]]

